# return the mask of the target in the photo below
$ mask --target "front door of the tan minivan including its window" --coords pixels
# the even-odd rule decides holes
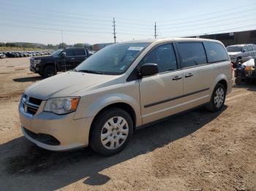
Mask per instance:
[[[159,74],[140,79],[140,106],[143,124],[174,113],[183,95],[183,74],[178,70],[173,44],[160,44],[141,64],[157,63]]]

